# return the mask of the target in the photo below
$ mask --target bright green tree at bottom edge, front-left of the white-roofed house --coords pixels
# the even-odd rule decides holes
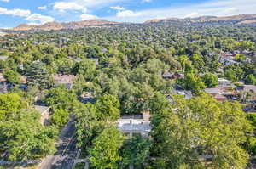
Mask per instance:
[[[96,169],[118,169],[119,149],[125,137],[115,127],[109,127],[93,141],[90,164]]]

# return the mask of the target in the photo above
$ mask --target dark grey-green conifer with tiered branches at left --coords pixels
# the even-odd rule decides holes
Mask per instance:
[[[33,62],[26,72],[27,84],[29,86],[36,86],[41,90],[53,86],[53,80],[49,76],[49,71],[43,63]]]

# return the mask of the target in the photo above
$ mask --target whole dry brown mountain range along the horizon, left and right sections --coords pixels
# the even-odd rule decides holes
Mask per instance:
[[[169,18],[169,19],[154,19],[148,20],[143,24],[161,24],[161,23],[189,23],[189,24],[224,24],[224,25],[247,25],[247,24],[256,24],[256,14],[241,14],[234,16],[201,16],[198,18]],[[83,20],[77,22],[49,22],[44,25],[27,25],[20,24],[15,28],[12,28],[12,31],[51,31],[51,30],[65,30],[65,29],[80,29],[84,27],[91,26],[111,26],[111,25],[124,25],[129,23],[113,22],[108,20]]]

